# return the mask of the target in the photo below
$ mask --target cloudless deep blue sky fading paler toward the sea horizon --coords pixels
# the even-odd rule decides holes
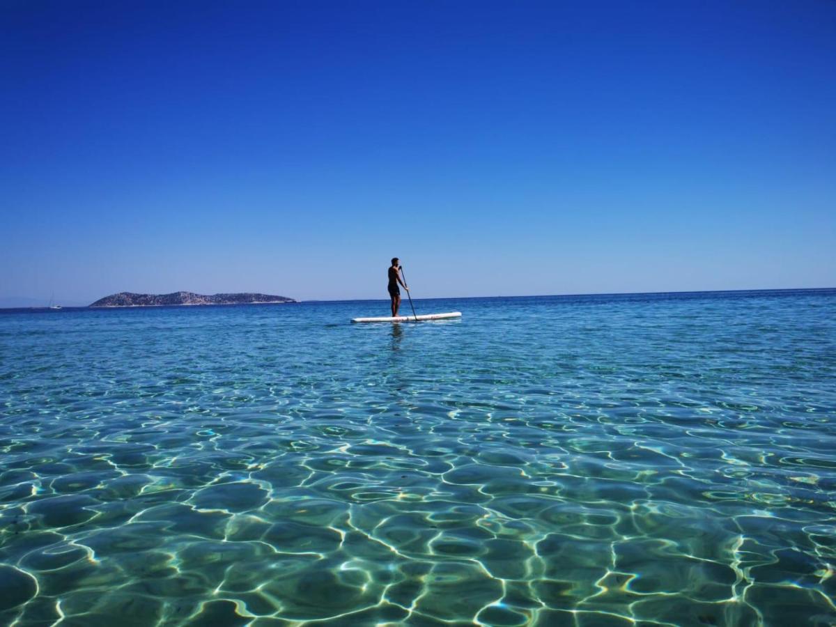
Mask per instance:
[[[0,297],[836,286],[836,2],[0,10]]]

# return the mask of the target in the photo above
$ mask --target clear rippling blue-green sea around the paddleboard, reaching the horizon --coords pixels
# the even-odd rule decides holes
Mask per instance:
[[[836,290],[416,305],[0,314],[0,624],[836,624]]]

